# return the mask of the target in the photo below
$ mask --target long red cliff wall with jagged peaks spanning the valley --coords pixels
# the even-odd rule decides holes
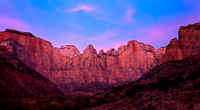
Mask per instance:
[[[183,49],[187,47],[193,52],[194,46],[188,47],[190,43],[186,46],[180,43],[184,42],[181,37],[185,36],[181,30],[185,31],[180,28],[179,40],[173,39],[167,48],[160,48],[157,52],[154,47],[133,40],[120,46],[117,51],[110,49],[105,53],[101,50],[99,54],[92,45],[88,45],[83,54],[80,54],[75,46],[54,48],[46,40],[19,34],[19,31],[1,32],[0,45],[6,46],[16,58],[55,82],[64,92],[93,92],[98,88],[97,85],[106,87],[134,81],[158,64],[189,56]],[[190,34],[193,35],[192,32]],[[199,37],[195,34],[193,36]],[[198,42],[191,42],[197,43],[195,46],[198,47]],[[86,90],[84,87],[88,86]]]

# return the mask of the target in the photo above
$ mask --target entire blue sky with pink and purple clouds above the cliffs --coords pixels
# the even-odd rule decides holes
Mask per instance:
[[[137,40],[166,46],[180,26],[200,22],[200,0],[0,0],[0,31],[32,32],[82,53]]]

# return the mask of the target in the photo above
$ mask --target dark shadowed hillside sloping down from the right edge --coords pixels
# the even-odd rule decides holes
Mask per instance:
[[[91,110],[199,110],[200,55],[157,66],[137,81],[99,93]]]

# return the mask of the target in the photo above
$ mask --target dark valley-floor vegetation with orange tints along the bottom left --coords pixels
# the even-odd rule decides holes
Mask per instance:
[[[54,94],[48,97],[0,99],[1,110],[77,110],[103,104],[101,99],[93,96],[66,97]]]

